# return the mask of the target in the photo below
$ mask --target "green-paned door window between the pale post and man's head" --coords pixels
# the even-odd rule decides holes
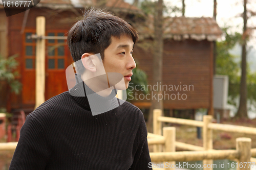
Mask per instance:
[[[64,36],[61,32],[49,32],[48,36]],[[65,68],[65,44],[66,40],[48,39],[47,40],[47,68],[64,69]]]

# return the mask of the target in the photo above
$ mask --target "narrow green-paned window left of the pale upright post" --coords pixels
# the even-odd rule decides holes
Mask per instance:
[[[26,69],[35,69],[35,40],[28,39],[28,36],[35,34],[34,32],[26,32],[25,33],[25,68]]]

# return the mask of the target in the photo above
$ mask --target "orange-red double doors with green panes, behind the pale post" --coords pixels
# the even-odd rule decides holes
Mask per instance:
[[[46,31],[49,36],[67,36],[67,30]],[[35,105],[35,46],[36,41],[27,39],[35,30],[26,30],[23,37],[22,103],[25,107]],[[66,68],[72,63],[67,40],[46,40],[46,86],[45,100],[68,90]]]

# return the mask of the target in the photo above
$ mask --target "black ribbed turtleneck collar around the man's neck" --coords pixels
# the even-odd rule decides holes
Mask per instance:
[[[76,85],[69,90],[69,93],[79,105],[93,112],[109,111],[118,105],[117,100],[114,99],[117,94],[116,89],[113,89],[109,96],[103,97],[88,87],[79,75],[76,75]]]

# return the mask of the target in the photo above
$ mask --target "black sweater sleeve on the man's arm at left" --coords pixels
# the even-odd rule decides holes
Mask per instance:
[[[41,126],[30,115],[20,129],[20,137],[9,170],[45,169],[49,152]]]

